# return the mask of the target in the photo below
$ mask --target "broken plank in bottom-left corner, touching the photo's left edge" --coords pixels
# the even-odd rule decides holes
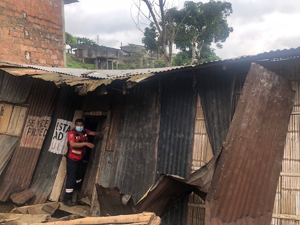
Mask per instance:
[[[29,215],[29,214],[18,214],[18,213],[0,213],[0,222],[1,220],[14,221],[17,224],[32,224],[35,222],[47,222],[51,216],[48,214],[42,215]],[[4,221],[2,221],[4,222]]]

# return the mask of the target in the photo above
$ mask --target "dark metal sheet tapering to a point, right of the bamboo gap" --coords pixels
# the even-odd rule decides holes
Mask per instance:
[[[196,76],[213,154],[221,147],[229,129],[234,80],[234,73],[222,70],[221,66],[198,70]]]

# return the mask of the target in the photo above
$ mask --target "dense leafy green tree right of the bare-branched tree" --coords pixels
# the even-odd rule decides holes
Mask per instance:
[[[233,31],[227,23],[227,17],[231,13],[231,3],[226,1],[184,2],[179,16],[174,18],[180,21],[182,16],[185,16],[174,42],[181,51],[191,51],[190,64],[193,64],[196,58],[201,61],[201,54],[213,56],[214,50],[210,48],[211,43],[222,48],[221,43]],[[202,53],[203,51],[205,53]]]

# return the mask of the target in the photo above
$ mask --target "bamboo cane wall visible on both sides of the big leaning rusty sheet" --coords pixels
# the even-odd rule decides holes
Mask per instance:
[[[299,60],[290,60],[289,62],[282,60],[275,63],[269,61],[257,63],[289,79],[292,89],[296,91],[286,135],[271,225],[300,225],[300,62]],[[246,74],[236,74],[232,95],[232,115],[245,78]],[[202,119],[203,111],[198,97],[191,172],[204,165],[212,157],[206,127]],[[186,224],[203,225],[204,213],[204,201],[197,195],[190,194]]]

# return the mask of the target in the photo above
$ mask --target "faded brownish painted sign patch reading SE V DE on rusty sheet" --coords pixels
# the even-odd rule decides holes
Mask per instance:
[[[47,134],[51,117],[28,115],[24,126],[21,147],[41,148],[42,142]]]

